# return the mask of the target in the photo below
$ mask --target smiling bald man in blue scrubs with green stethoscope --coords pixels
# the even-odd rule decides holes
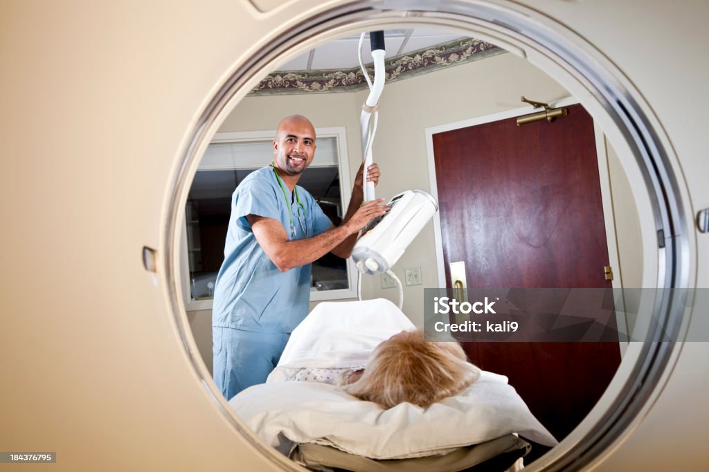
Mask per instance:
[[[311,262],[328,252],[350,257],[357,232],[389,210],[382,200],[362,205],[360,167],[343,223],[333,227],[313,196],[296,186],[313,161],[315,141],[307,118],[284,118],[273,163],[249,174],[233,193],[212,312],[213,376],[227,400],[266,381],[308,314]],[[379,181],[376,164],[367,174],[368,181]]]

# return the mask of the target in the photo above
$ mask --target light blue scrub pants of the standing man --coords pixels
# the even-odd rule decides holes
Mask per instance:
[[[230,400],[241,390],[264,383],[276,367],[290,333],[212,327],[213,377]]]

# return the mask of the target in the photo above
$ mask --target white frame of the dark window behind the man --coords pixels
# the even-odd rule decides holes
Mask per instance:
[[[228,133],[216,133],[211,140],[212,143],[229,143],[229,142],[255,142],[255,141],[267,141],[272,142],[273,137],[276,135],[276,130],[264,130],[264,131],[236,131]],[[347,133],[346,128],[343,126],[337,126],[333,128],[316,128],[316,136],[318,138],[323,137],[334,137],[335,138],[335,149],[337,150],[337,162],[330,162],[320,160],[318,161],[318,154],[316,152],[316,158],[309,167],[329,167],[333,164],[337,164],[337,171],[339,172],[340,178],[340,201],[342,201],[342,213],[347,212],[347,206],[350,205],[350,191],[352,189],[350,182],[350,160],[347,156]],[[317,142],[316,142],[317,144]],[[264,165],[264,159],[268,159],[269,156],[259,156],[257,157],[258,162],[239,162],[236,166],[225,165],[224,167],[216,167],[210,165],[208,169],[211,170],[231,170],[231,169],[253,169],[254,167],[262,167]],[[201,168],[203,169],[203,168]],[[307,170],[306,170],[307,172]],[[181,259],[182,259],[182,291],[184,303],[187,311],[195,310],[211,310],[213,300],[192,300],[190,284],[189,284],[189,262],[188,262],[188,247],[187,247],[187,225],[186,222],[182,225],[182,244],[181,244]],[[347,280],[349,282],[350,288],[340,288],[337,290],[327,290],[318,291],[315,288],[311,289],[311,301],[322,301],[322,300],[340,300],[344,298],[356,298],[357,297],[357,269],[354,268],[354,263],[352,259],[347,259]]]

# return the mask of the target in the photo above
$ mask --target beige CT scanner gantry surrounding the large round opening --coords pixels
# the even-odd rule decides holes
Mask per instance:
[[[623,162],[657,261],[648,286],[708,287],[708,18],[699,0],[0,2],[0,452],[56,452],[0,470],[302,470],[211,382],[176,248],[225,114],[335,35],[448,28],[547,72]],[[708,300],[664,293],[651,309],[676,342],[631,343],[596,408],[528,470],[708,470],[709,344],[686,340]]]

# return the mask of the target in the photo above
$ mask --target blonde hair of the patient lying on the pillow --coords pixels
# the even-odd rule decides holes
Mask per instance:
[[[461,392],[479,377],[480,369],[466,360],[454,339],[427,342],[423,330],[415,330],[379,344],[359,380],[341,388],[384,409],[404,402],[428,408]]]

